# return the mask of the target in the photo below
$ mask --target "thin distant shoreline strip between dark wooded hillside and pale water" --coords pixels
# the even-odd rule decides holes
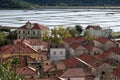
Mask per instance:
[[[39,6],[32,9],[0,8],[0,10],[36,10],[36,9],[120,9],[120,6]]]

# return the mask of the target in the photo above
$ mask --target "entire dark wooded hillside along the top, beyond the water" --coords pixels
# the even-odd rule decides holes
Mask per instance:
[[[39,6],[120,6],[120,0],[0,0],[1,9],[31,9]]]

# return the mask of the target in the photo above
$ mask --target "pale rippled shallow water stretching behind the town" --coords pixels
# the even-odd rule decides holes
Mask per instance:
[[[0,10],[0,25],[20,27],[27,21],[48,27],[100,25],[120,31],[120,9]]]

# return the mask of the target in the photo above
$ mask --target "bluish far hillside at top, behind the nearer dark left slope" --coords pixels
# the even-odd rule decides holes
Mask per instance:
[[[41,6],[119,6],[120,0],[24,0]]]

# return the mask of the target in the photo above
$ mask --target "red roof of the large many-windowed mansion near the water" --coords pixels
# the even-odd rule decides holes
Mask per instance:
[[[48,28],[44,25],[41,25],[41,24],[38,24],[38,23],[30,23],[30,22],[27,22],[30,24],[31,26],[31,29],[38,29],[38,30],[48,30]],[[27,29],[27,23],[21,27],[19,27],[18,29]]]

